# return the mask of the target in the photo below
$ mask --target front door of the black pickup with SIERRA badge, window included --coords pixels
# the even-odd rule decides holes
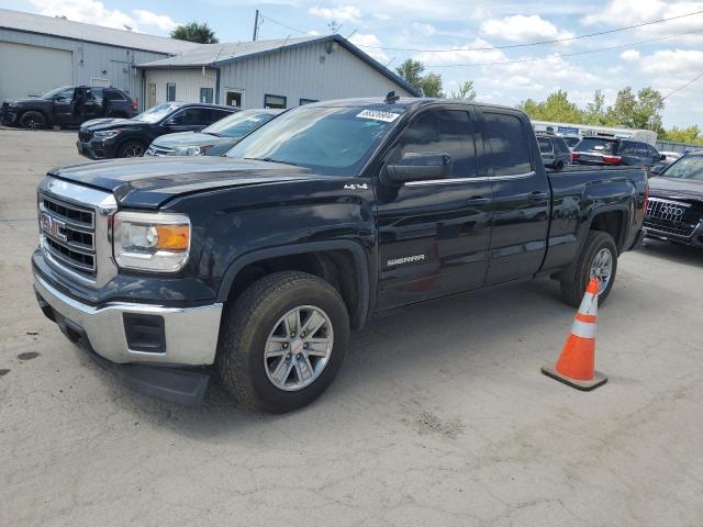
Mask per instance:
[[[453,171],[400,187],[377,180],[380,310],[483,285],[493,200],[477,166],[475,115],[470,106],[424,110],[383,155],[392,162],[406,153],[444,153]]]

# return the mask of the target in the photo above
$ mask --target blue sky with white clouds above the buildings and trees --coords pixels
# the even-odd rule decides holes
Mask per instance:
[[[703,1],[0,0],[0,7],[156,35],[199,20],[230,42],[250,40],[256,8],[265,16],[260,38],[325,34],[335,21],[339,34],[391,68],[417,58],[442,75],[445,90],[471,79],[479,100],[509,105],[557,89],[578,103],[595,89],[612,102],[624,86],[652,86],[666,96],[703,74]],[[571,40],[525,46],[563,38]],[[703,78],[668,98],[665,125],[703,125],[702,94]]]

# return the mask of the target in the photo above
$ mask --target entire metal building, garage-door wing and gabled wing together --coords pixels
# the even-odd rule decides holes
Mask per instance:
[[[0,101],[60,86],[112,86],[141,108],[165,101],[291,108],[419,94],[339,35],[194,44],[0,9]]]

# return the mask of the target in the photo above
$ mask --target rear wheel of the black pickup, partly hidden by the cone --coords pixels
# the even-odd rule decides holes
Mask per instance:
[[[613,236],[602,231],[589,231],[585,245],[576,264],[572,280],[561,281],[561,299],[578,307],[592,278],[598,278],[598,301],[605,302],[617,272],[617,247]]]

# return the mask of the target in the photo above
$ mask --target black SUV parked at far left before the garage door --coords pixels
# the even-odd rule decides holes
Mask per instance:
[[[116,88],[65,86],[42,97],[3,101],[0,122],[24,128],[78,126],[96,117],[127,119],[136,108],[136,101]]]

